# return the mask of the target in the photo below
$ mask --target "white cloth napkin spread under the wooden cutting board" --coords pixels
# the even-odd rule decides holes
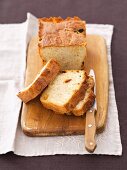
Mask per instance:
[[[37,32],[37,19],[28,13],[21,24],[0,25],[0,154],[13,151],[17,155],[89,154],[84,149],[84,136],[27,137],[20,125],[21,101],[16,93],[23,87],[26,49]],[[106,39],[109,64],[109,107],[106,129],[97,135],[94,154],[121,155],[118,110],[111,66],[112,25],[87,24],[88,34]]]

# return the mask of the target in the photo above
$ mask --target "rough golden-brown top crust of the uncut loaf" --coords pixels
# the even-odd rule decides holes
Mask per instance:
[[[39,19],[39,48],[86,45],[86,23],[78,17]]]

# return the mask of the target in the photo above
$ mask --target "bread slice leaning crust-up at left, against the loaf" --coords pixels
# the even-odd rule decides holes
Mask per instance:
[[[25,89],[20,91],[17,96],[27,103],[38,96],[44,88],[56,77],[60,70],[60,66],[55,59],[50,59],[41,69],[40,73],[34,81]]]

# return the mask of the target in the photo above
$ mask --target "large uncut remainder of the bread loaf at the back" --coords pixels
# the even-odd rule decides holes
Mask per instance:
[[[39,54],[43,62],[53,56],[61,70],[80,70],[86,57],[86,23],[78,17],[40,18]],[[73,57],[73,59],[72,59]]]

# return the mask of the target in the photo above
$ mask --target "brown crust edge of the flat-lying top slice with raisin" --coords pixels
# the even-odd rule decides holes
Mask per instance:
[[[40,101],[42,105],[45,108],[51,109],[58,114],[65,114],[65,113],[71,112],[75,108],[75,106],[78,104],[78,102],[84,98],[85,91],[88,87],[87,79],[88,79],[88,75],[86,72],[84,72],[84,81],[81,83],[79,89],[75,90],[72,97],[63,106],[59,106],[59,105],[56,105],[50,102],[47,103],[47,102],[44,102],[44,100],[41,101],[41,97],[40,97]]]

